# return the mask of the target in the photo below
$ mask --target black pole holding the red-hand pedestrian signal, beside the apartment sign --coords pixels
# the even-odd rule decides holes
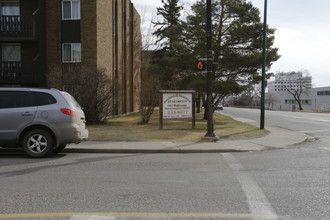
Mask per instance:
[[[206,47],[207,47],[207,133],[205,137],[215,137],[213,131],[213,109],[212,109],[212,80],[213,80],[213,52],[212,52],[212,15],[211,0],[206,3]]]

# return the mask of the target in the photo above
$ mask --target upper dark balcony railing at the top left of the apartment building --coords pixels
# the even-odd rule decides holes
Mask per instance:
[[[36,37],[36,17],[0,16],[0,37]]]

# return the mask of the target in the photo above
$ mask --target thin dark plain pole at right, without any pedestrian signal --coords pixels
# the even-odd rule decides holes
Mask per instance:
[[[263,30],[263,40],[262,40],[260,129],[265,128],[266,44],[267,44],[267,0],[265,0],[265,4],[264,4],[264,30]]]

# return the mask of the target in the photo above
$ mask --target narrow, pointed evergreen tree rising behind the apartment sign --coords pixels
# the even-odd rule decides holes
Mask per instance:
[[[157,8],[157,15],[162,20],[153,22],[157,28],[153,34],[158,37],[162,49],[155,53],[151,68],[160,74],[163,89],[174,89],[180,73],[191,65],[192,58],[182,35],[180,13],[183,7],[178,4],[178,0],[162,0],[162,4],[162,7]]]

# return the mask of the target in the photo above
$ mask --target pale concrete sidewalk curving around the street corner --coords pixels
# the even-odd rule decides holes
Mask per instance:
[[[65,152],[81,153],[225,153],[286,148],[308,140],[308,136],[277,127],[267,127],[270,134],[250,140],[220,140],[203,143],[172,142],[96,142],[68,145]]]

